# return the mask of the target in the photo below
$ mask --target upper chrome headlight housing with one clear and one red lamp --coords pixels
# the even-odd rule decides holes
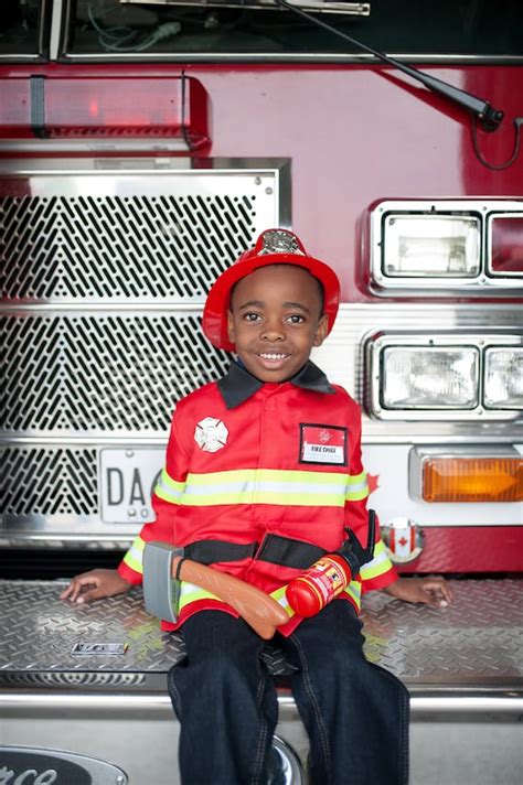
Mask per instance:
[[[523,201],[380,202],[369,256],[370,288],[383,297],[514,295],[523,292]]]

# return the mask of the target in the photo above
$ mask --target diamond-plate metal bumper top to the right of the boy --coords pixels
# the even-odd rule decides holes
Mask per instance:
[[[455,602],[444,610],[370,594],[367,658],[407,684],[523,686],[523,581],[450,584]]]

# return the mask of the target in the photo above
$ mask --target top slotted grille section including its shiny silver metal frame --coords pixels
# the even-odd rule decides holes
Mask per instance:
[[[278,217],[275,171],[147,166],[0,178],[3,298],[202,301]]]

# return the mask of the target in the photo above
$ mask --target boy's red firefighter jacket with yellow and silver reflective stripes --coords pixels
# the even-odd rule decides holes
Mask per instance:
[[[350,527],[365,545],[367,496],[361,412],[342,387],[331,386],[312,363],[282,384],[264,384],[233,364],[223,379],[178,404],[152,499],[156,520],[143,526],[118,569],[139,583],[150,540],[243,545],[274,534],[333,551]],[[362,589],[383,588],[397,577],[376,536],[373,560],[341,595],[356,610]],[[285,585],[302,570],[250,556],[213,567],[280,601],[289,614],[284,634],[301,621],[286,606]],[[182,583],[179,622],[163,628],[177,628],[202,609],[237,615],[209,592]]]

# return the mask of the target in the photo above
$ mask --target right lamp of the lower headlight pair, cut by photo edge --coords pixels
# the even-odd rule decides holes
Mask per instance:
[[[484,405],[495,409],[523,409],[523,348],[485,351]]]

